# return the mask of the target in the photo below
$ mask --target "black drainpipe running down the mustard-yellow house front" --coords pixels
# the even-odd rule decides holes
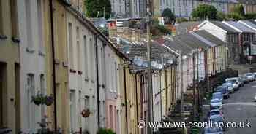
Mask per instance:
[[[54,48],[54,28],[53,28],[53,1],[50,3],[50,32],[52,44],[52,59],[53,59],[53,96],[54,96],[54,130],[57,132],[57,102],[56,102],[56,71],[55,71],[55,48]]]

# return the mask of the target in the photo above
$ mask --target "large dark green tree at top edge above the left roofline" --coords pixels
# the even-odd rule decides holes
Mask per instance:
[[[111,4],[110,0],[85,0],[86,15],[88,17],[103,17],[105,10],[105,18],[110,18]],[[98,15],[99,12],[99,15]]]

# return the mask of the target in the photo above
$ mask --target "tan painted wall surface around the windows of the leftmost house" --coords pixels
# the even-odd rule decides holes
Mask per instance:
[[[0,39],[0,62],[5,66],[1,66],[4,71],[3,85],[0,90],[3,93],[2,103],[3,106],[3,125],[12,129],[12,133],[17,133],[20,115],[16,113],[19,109],[19,98],[17,95],[18,87],[15,88],[15,84],[19,82],[15,81],[15,63],[20,63],[19,59],[19,44],[12,42],[12,20],[10,15],[10,1],[1,0],[1,17],[2,28],[1,36],[7,36],[7,39]],[[18,23],[18,22],[14,22]],[[18,76],[19,77],[19,76]],[[15,83],[16,82],[16,83]]]

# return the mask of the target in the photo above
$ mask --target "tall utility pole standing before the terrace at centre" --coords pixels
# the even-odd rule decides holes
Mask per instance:
[[[151,13],[150,13],[150,7],[148,7],[148,15],[146,17],[146,23],[147,23],[147,36],[148,36],[148,42],[147,42],[147,50],[148,50],[148,122],[153,122],[153,91],[152,91],[152,75],[151,75],[151,33],[150,33],[150,27],[151,27]],[[151,127],[148,126],[148,134],[153,134],[153,130]]]

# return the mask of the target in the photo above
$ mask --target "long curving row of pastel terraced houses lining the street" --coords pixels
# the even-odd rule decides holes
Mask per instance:
[[[254,22],[205,21],[197,31],[152,40],[148,79],[147,42],[108,39],[81,3],[0,1],[1,131],[147,133],[137,122],[148,119],[148,81],[154,121],[162,121],[196,82],[254,55]]]

